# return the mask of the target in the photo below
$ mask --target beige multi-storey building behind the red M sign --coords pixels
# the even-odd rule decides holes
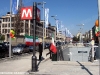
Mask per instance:
[[[12,22],[11,22],[11,29],[15,29],[14,24],[14,18],[15,15],[12,15]],[[19,35],[33,35],[33,22],[32,20],[23,20],[21,22],[21,28],[19,31]],[[41,22],[36,23],[36,36],[42,38],[42,31],[43,31],[43,24]],[[1,17],[1,34],[9,34],[10,32],[10,13],[7,13],[6,15]]]

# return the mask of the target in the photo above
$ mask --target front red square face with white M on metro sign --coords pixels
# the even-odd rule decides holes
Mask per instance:
[[[31,20],[32,19],[32,7],[22,7],[21,8],[21,20]]]

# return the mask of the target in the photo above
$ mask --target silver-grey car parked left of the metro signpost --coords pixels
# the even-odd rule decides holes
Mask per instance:
[[[18,44],[16,47],[14,47],[12,49],[14,54],[22,54],[22,53],[26,53],[26,52],[30,52],[29,50],[29,46],[25,45],[25,44]]]

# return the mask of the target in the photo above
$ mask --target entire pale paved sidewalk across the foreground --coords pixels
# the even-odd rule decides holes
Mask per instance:
[[[43,61],[37,61],[37,72],[30,72],[32,54],[28,54],[15,60],[0,62],[0,75],[99,75],[99,61],[51,61],[49,55],[46,57],[48,51],[44,50]],[[38,59],[38,52],[36,56]]]

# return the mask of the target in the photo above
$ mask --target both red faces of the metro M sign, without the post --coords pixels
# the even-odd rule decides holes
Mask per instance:
[[[21,8],[21,20],[33,19],[33,7],[22,7]],[[37,21],[40,21],[40,9],[37,8]]]

